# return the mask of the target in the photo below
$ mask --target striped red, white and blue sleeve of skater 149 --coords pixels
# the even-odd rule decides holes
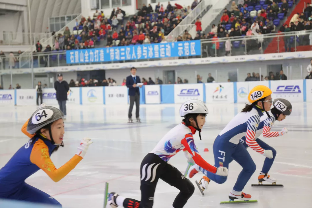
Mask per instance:
[[[256,142],[256,130],[260,123],[259,115],[251,116],[247,121],[246,144],[260,154],[264,153],[264,149]]]

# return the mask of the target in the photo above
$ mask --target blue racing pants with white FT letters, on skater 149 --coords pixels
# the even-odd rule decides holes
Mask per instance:
[[[256,164],[244,145],[242,143],[233,144],[218,135],[213,143],[213,155],[215,157],[215,167],[223,166],[229,168],[229,164],[233,160],[243,167],[233,187],[234,191],[242,191],[252,174],[256,171]],[[200,170],[202,171],[202,168]],[[203,173],[216,183],[224,183],[227,180],[226,176],[218,176],[208,171],[203,171]]]

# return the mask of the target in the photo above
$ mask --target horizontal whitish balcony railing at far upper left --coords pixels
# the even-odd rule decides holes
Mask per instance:
[[[51,33],[32,33],[32,42],[48,39]],[[29,32],[3,32],[0,33],[0,45],[30,45],[31,35]]]

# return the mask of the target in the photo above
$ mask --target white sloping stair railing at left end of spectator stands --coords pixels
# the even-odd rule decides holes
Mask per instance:
[[[82,18],[82,14],[78,15],[75,19],[73,19],[71,22],[69,22],[67,25],[65,25],[61,30],[57,31],[53,36],[50,36],[49,38],[43,37],[39,40],[42,48],[44,49],[47,45],[50,45],[51,47],[54,45],[54,41],[55,38],[58,34],[62,34],[64,35],[64,31],[66,29],[66,27],[68,27],[68,29],[71,31],[71,34],[73,34],[73,28],[76,26],[76,20],[79,23],[81,21]],[[37,41],[36,41],[37,42]],[[24,51],[19,57],[19,65],[20,67],[23,67],[25,65],[28,64],[28,66],[31,68],[31,54],[32,51],[36,50],[36,42],[33,43],[32,47],[30,47],[29,49],[27,49],[26,51]]]

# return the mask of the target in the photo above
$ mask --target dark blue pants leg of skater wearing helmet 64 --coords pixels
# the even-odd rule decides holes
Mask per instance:
[[[28,185],[27,183],[24,183],[22,186],[20,186],[17,192],[8,196],[0,196],[0,198],[58,205],[60,207],[62,206],[60,202],[56,201],[52,196],[46,194],[43,191],[40,191],[33,186]]]

